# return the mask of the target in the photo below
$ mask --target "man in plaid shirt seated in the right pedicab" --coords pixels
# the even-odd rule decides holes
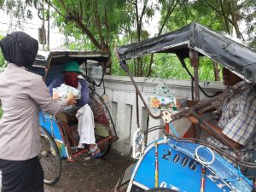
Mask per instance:
[[[224,85],[233,86],[241,82],[241,78],[227,68],[223,69]],[[194,116],[189,117],[193,124],[198,124]],[[233,93],[224,99],[221,107],[220,119],[217,125],[207,122],[212,129],[218,132],[231,146],[241,152],[241,160],[249,161],[252,158],[253,148],[256,143],[256,90],[255,87],[242,92]],[[207,131],[204,125],[200,127]],[[227,154],[233,154],[231,150],[221,143],[218,138],[207,137],[209,143],[223,148]]]

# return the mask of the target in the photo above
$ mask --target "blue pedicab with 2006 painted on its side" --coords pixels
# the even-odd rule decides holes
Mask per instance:
[[[191,77],[193,100],[200,101],[200,93],[207,94],[201,89],[198,78],[199,57],[201,56],[207,56],[212,61],[229,68],[245,79],[247,83],[242,81],[236,87],[198,102],[190,108],[177,111],[173,110],[175,108],[162,109],[160,115],[154,115],[138,89],[126,61],[143,55],[159,53],[177,55],[183,68]],[[135,86],[137,102],[140,98],[150,117],[162,118],[166,123],[166,125],[154,126],[148,128],[147,131],[142,131],[137,114],[137,131],[134,133],[129,153],[130,156],[132,154],[137,159],[137,162],[131,166],[127,164],[125,172],[115,187],[116,192],[246,192],[255,190],[255,182],[253,182],[255,181],[255,160],[253,162],[243,161],[199,138],[178,137],[177,130],[172,125],[176,119],[194,115],[209,131],[212,131],[198,113],[214,108],[224,97],[230,96],[234,91],[243,91],[248,86],[254,86],[256,82],[256,53],[252,49],[248,49],[206,26],[191,23],[175,32],[149,38],[137,44],[117,47],[116,55],[120,67],[130,76],[131,82]],[[184,61],[186,58],[189,58],[190,65],[194,67],[194,75],[186,66]],[[146,146],[144,142],[146,135],[159,129],[163,130],[164,136]],[[212,131],[212,134],[214,133],[220,141],[225,143],[224,137],[220,137]],[[230,150],[237,152],[236,148],[229,147]],[[230,161],[237,167],[232,166]],[[241,166],[247,167],[248,174],[241,173],[239,169]],[[254,173],[252,173],[253,170]]]

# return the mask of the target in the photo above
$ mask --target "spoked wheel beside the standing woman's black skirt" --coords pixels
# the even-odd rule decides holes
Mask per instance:
[[[61,155],[55,140],[40,126],[42,149],[39,160],[44,171],[44,183],[53,185],[61,178]]]

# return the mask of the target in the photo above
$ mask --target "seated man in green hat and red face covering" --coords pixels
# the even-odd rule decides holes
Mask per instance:
[[[79,79],[78,75],[82,72],[79,69],[79,63],[76,61],[67,61],[62,67],[62,73],[64,77],[55,79],[49,84],[49,93],[53,95],[53,88],[61,86],[61,84],[67,84],[80,90],[81,98],[73,108],[67,108],[64,113],[58,113],[57,117],[61,121],[67,137],[71,142],[73,148],[84,148],[84,144],[89,144],[90,156],[97,157],[101,155],[101,150],[96,144],[95,138],[95,125],[93,113],[88,105],[90,103],[90,90],[85,79]],[[72,131],[68,126],[68,119],[73,119],[76,116],[79,119],[78,131],[79,131],[79,143],[73,137]],[[83,123],[86,121],[86,123]]]

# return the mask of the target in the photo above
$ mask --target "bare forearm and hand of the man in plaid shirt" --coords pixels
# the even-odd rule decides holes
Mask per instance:
[[[194,116],[190,116],[190,117],[189,117],[189,120],[192,122],[192,124],[198,124],[198,119],[196,119]],[[219,136],[224,137],[225,140],[226,140],[228,143],[230,143],[231,146],[233,146],[233,147],[236,148],[236,149],[241,148],[241,144],[236,143],[235,141],[233,141],[232,139],[230,139],[230,137],[226,137],[226,136],[224,135],[224,133],[222,132],[223,130],[222,130],[221,128],[219,128],[218,126],[213,125],[213,124],[211,124],[211,123],[209,123],[209,122],[207,122],[207,121],[205,121],[205,122],[206,122],[208,125],[210,125],[211,128],[212,128],[212,130],[214,130],[215,132],[217,132]],[[216,139],[219,140],[219,137],[216,137],[214,134],[212,134],[212,132],[209,131],[209,130],[206,128],[205,125],[202,125],[202,124],[201,124],[200,127],[201,127],[204,131],[207,131],[207,133],[209,133],[212,137],[215,137]]]

